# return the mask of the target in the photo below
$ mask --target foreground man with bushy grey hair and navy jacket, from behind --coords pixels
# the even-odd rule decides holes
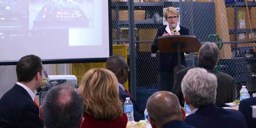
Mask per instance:
[[[189,69],[181,82],[182,93],[191,113],[185,122],[196,128],[247,128],[243,114],[237,110],[218,108],[217,77],[204,68]]]

